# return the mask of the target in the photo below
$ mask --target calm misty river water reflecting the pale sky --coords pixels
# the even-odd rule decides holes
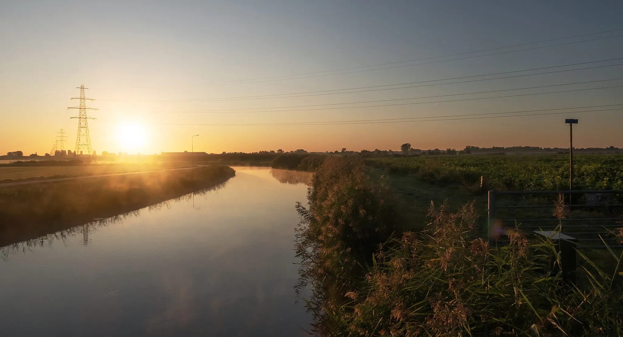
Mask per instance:
[[[0,335],[307,335],[293,227],[310,174],[235,169],[216,191],[4,247]]]

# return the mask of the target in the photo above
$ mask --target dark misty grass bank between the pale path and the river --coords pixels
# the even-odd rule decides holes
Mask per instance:
[[[227,166],[0,187],[0,246],[225,183]]]

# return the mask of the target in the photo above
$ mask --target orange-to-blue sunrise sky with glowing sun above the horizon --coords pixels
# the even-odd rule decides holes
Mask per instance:
[[[190,151],[197,134],[208,153],[564,147],[564,118],[579,119],[577,147],[623,147],[622,13],[620,0],[2,1],[0,154],[49,152],[60,128],[74,150],[82,84],[97,153]],[[483,80],[497,77],[511,78]],[[431,85],[447,82],[464,83]]]

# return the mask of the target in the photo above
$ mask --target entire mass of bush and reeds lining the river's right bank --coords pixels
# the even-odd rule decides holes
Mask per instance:
[[[315,333],[623,334],[620,252],[607,253],[612,263],[606,270],[578,252],[576,281],[565,283],[556,272],[553,242],[511,230],[510,244],[490,247],[477,237],[473,204],[456,211],[432,205],[426,229],[404,232],[392,200],[383,181],[371,181],[357,159],[327,159],[316,172],[310,206],[297,206],[297,287],[312,288],[305,300],[315,314]]]

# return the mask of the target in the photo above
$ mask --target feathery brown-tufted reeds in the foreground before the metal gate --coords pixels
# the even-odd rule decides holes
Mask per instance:
[[[618,270],[606,273],[579,253],[578,282],[565,284],[549,267],[556,256],[553,242],[529,242],[516,230],[509,231],[504,247],[468,239],[477,217],[472,204],[455,213],[433,206],[429,215],[432,221],[421,234],[389,240],[357,290],[346,294],[350,300],[321,307],[318,322],[328,335],[623,333]],[[612,256],[615,262],[623,258]]]

